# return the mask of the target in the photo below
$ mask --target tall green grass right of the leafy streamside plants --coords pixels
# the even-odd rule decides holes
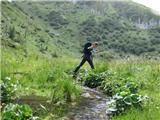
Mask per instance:
[[[113,120],[159,120],[160,119],[160,62],[153,60],[113,61],[109,69],[141,83],[140,93],[149,96],[143,110],[131,109]],[[118,82],[118,81],[117,81]]]

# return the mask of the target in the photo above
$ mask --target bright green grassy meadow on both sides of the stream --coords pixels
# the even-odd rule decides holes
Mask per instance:
[[[34,111],[35,114],[42,119],[58,119],[63,117],[69,111],[69,107],[67,106],[70,104],[70,101],[78,102],[81,100],[81,87],[75,84],[75,80],[71,77],[71,73],[80,59],[68,57],[47,58],[38,55],[31,55],[28,58],[22,56],[13,57],[12,54],[5,54],[3,51],[2,56],[2,80],[5,77],[10,77],[12,83],[18,83],[16,94],[14,95],[15,99],[21,98],[21,96],[27,98],[35,95],[45,97],[52,103],[54,110],[45,105],[44,107],[47,110],[34,108],[33,106],[33,109],[36,110]],[[159,61],[140,58],[108,61],[95,58],[95,67],[94,71],[96,74],[104,71],[116,73],[113,82],[121,82],[121,78],[132,79],[138,82],[141,84],[139,94],[149,97],[149,100],[143,103],[142,109],[132,107],[121,115],[113,116],[113,120],[160,119]],[[88,64],[85,64],[82,69],[94,72],[90,70]]]

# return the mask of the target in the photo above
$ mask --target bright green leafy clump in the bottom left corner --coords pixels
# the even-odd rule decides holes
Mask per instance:
[[[7,104],[2,111],[2,120],[40,120],[34,117],[29,105]]]

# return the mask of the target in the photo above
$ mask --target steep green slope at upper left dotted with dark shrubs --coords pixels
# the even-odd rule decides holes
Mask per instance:
[[[28,55],[57,57],[70,54],[44,29],[45,24],[30,18],[15,3],[2,2],[1,22],[3,52],[22,54],[25,57]]]

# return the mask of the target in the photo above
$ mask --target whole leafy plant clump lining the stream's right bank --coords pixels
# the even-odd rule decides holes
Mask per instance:
[[[131,107],[142,108],[143,96],[139,95],[140,85],[128,77],[129,74],[107,70],[102,73],[91,72],[85,78],[85,85],[91,88],[100,87],[105,94],[113,96],[108,103],[107,112],[120,114]]]

